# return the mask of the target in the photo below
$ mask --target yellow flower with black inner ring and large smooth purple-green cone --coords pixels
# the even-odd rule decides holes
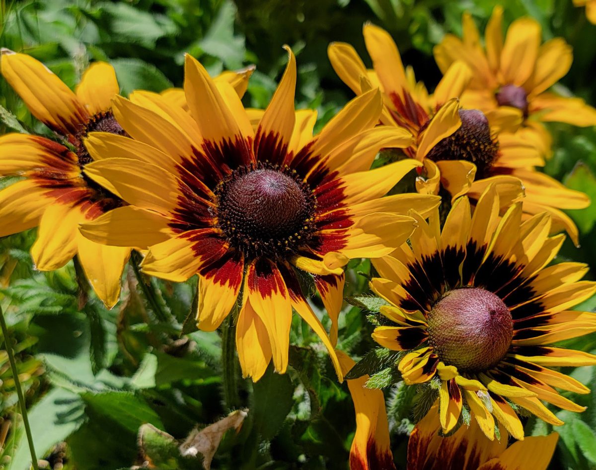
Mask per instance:
[[[390,303],[381,307],[389,321],[373,338],[407,351],[398,366],[406,384],[436,386],[443,431],[457,424],[465,400],[490,439],[494,418],[522,439],[510,403],[553,425],[562,422],[540,400],[584,409],[552,387],[589,390],[549,367],[592,365],[596,356],[551,344],[596,331],[596,314],[568,310],[590,298],[596,283],[580,281],[582,263],[546,267],[564,238],[548,236],[548,214],[522,222],[516,203],[499,219],[498,207],[491,186],[473,217],[468,198],[458,199],[442,231],[438,214],[429,224],[414,215],[409,243],[373,260],[380,278],[371,288]]]

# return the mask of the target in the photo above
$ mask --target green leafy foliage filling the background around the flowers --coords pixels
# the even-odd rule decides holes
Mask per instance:
[[[201,60],[212,75],[255,64],[244,102],[265,107],[285,66],[281,46],[288,44],[299,64],[297,106],[317,109],[320,127],[352,97],[327,60],[330,42],[350,42],[366,58],[362,24],[379,24],[392,33],[404,63],[432,89],[440,79],[433,46],[446,32],[461,33],[464,11],[483,28],[496,3],[0,0],[0,45],[44,61],[69,86],[77,84],[89,61],[108,61],[116,69],[123,95],[139,88],[162,91],[181,86],[185,53]],[[507,22],[532,16],[541,23],[544,39],[563,36],[572,45],[575,60],[557,91],[596,104],[596,26],[588,23],[583,8],[574,8],[570,0],[499,3]],[[22,125],[51,135],[6,82],[0,82],[0,89],[0,133],[18,131]],[[555,150],[545,171],[596,200],[595,129],[550,129]],[[0,179],[0,188],[12,181]],[[570,215],[581,231],[581,248],[567,241],[559,258],[588,262],[594,279],[596,205]],[[0,239],[0,305],[45,468],[200,468],[196,459],[180,456],[176,443],[193,429],[244,408],[250,410],[248,416],[239,432],[224,434],[213,468],[347,468],[355,428],[353,406],[321,345],[299,319],[294,319],[291,332],[296,346],[290,351],[288,374],[269,370],[257,384],[238,381],[235,395],[224,396],[221,338],[215,332],[196,331],[188,317],[196,279],[174,285],[135,276],[129,267],[122,300],[107,311],[77,276],[76,264],[52,273],[36,272],[29,256],[34,239],[35,230]],[[368,262],[352,262],[346,296],[366,292],[369,275]],[[147,292],[156,296],[148,299]],[[328,326],[320,299],[312,300]],[[352,303],[374,310],[363,298]],[[594,310],[596,299],[580,308]],[[168,321],[157,318],[156,310],[165,311]],[[339,347],[354,356],[364,354],[373,348],[370,329],[361,308],[346,304]],[[593,351],[596,338],[580,339],[573,347]],[[592,368],[580,367],[572,375],[596,389]],[[379,382],[377,386],[383,386]],[[386,389],[386,397],[396,463],[405,468],[412,414],[398,392]],[[596,395],[569,396],[588,410],[582,415],[558,412],[566,424],[557,429],[561,439],[550,468],[595,469]],[[0,351],[0,410],[0,468],[29,468],[5,351]],[[527,419],[527,434],[550,430]]]

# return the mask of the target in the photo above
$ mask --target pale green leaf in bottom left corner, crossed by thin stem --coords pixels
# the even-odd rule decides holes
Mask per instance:
[[[44,457],[55,444],[65,440],[85,422],[84,409],[85,404],[79,395],[55,388],[29,410],[31,434],[38,458]],[[9,468],[28,470],[31,454],[27,438],[24,432],[18,434],[17,450]]]

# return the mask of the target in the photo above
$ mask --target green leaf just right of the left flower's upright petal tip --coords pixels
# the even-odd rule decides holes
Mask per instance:
[[[135,89],[160,92],[172,87],[172,82],[160,70],[141,59],[119,58],[111,64],[116,70],[123,95],[129,95]]]

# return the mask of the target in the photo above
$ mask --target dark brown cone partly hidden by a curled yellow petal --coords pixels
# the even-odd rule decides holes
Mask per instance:
[[[499,144],[491,137],[485,114],[477,109],[460,109],[461,127],[439,141],[429,152],[438,160],[467,160],[476,165],[476,179],[486,178],[499,152]]]

